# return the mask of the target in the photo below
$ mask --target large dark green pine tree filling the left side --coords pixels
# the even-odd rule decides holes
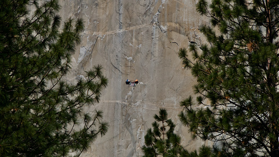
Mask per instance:
[[[61,27],[59,9],[57,0],[0,3],[1,156],[79,156],[107,131],[101,111],[83,111],[107,85],[101,66],[76,83],[65,77],[84,26]]]

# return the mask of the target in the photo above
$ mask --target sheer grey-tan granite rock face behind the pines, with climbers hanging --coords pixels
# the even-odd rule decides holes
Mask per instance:
[[[195,11],[197,0],[60,0],[64,18],[83,18],[85,31],[69,79],[100,64],[109,84],[101,101],[87,110],[102,110],[109,131],[82,156],[141,156],[153,115],[165,108],[176,133],[189,150],[192,141],[178,120],[180,101],[192,94],[194,78],[183,68],[178,50],[189,41],[204,41]],[[139,80],[136,87],[125,80]]]

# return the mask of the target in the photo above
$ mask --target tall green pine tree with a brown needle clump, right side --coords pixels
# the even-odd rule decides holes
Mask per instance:
[[[179,52],[197,78],[181,121],[220,155],[279,156],[279,1],[199,0],[197,11],[211,25],[200,28],[207,44]]]

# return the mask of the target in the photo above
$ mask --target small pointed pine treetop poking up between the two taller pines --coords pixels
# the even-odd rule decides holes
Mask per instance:
[[[144,136],[145,145],[142,147],[144,156],[181,156],[181,157],[209,157],[217,156],[218,149],[210,148],[209,146],[202,145],[197,151],[189,152],[181,145],[181,138],[175,134],[176,125],[172,119],[168,119],[168,113],[165,109],[160,109],[159,116],[154,115],[152,123],[153,131],[151,128],[147,130]],[[160,125],[161,124],[161,125]]]

